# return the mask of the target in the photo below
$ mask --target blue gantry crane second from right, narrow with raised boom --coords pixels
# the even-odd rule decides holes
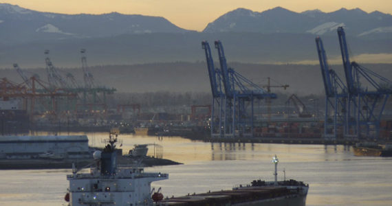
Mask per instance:
[[[316,47],[325,89],[324,138],[336,139],[337,135],[343,135],[338,134],[338,127],[343,128],[343,133],[347,130],[345,122],[348,91],[334,69],[329,69],[327,54],[320,37],[316,37]]]

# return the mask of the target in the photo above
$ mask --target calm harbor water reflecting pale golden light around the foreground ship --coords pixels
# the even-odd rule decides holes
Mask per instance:
[[[91,146],[104,146],[106,133],[86,135]],[[392,205],[392,158],[355,157],[349,146],[224,144],[134,135],[120,135],[120,139],[124,153],[134,144],[151,144],[149,156],[160,152],[165,159],[184,163],[145,169],[169,174],[168,180],[152,185],[162,187],[165,197],[228,190],[254,179],[272,181],[272,157],[277,155],[279,180],[309,184],[307,205]],[[66,205],[65,176],[70,173],[0,170],[0,205]]]

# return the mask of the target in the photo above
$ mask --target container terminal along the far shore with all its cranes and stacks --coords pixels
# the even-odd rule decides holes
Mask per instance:
[[[296,94],[284,100],[272,89],[295,85],[255,84],[226,62],[224,45],[217,49],[219,68],[210,45],[202,42],[212,101],[170,108],[151,108],[140,102],[116,102],[116,89],[98,84],[87,66],[87,50],[80,50],[83,83],[54,66],[45,50],[47,80],[28,76],[14,64],[22,83],[0,80],[1,134],[47,131],[107,132],[181,136],[205,141],[285,144],[354,144],[388,142],[392,138],[391,80],[351,62],[345,30],[337,30],[344,76],[327,63],[320,37],[315,38],[324,96],[304,99]],[[355,75],[353,75],[353,73]],[[108,103],[111,100],[111,104]],[[210,98],[211,100],[211,98]],[[174,101],[174,100],[173,100]],[[113,104],[113,102],[115,102]],[[176,111],[176,112],[174,112]]]

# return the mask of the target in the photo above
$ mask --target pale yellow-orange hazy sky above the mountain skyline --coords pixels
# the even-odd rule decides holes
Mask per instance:
[[[198,31],[203,30],[217,17],[236,8],[262,12],[281,6],[294,12],[314,9],[332,12],[344,7],[361,8],[365,12],[378,10],[392,13],[392,0],[6,0],[1,3],[63,14],[119,12],[163,16],[179,27]]]

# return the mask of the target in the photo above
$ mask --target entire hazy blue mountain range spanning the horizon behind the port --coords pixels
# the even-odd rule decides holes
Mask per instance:
[[[201,42],[212,45],[217,39],[224,43],[228,61],[317,62],[316,36],[323,38],[330,57],[340,55],[338,26],[345,27],[353,55],[392,54],[391,14],[358,8],[329,13],[239,8],[195,32],[157,16],[56,14],[0,3],[0,68],[15,62],[24,68],[44,67],[45,49],[56,67],[80,65],[81,48],[87,49],[90,65],[196,62],[205,60]]]

